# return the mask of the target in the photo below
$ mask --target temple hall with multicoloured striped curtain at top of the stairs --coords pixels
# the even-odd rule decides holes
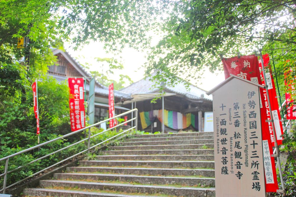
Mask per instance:
[[[156,72],[152,73],[152,76]],[[206,95],[206,91],[189,85],[189,90],[182,83],[174,87],[164,85],[161,94],[160,89],[150,78],[141,79],[128,87],[120,89],[120,92],[132,97],[118,103],[124,108],[138,108],[138,128],[149,132],[194,130],[203,131],[203,117],[205,112],[212,112],[212,95]],[[156,103],[151,103],[155,97],[161,97]],[[163,110],[164,109],[164,110]],[[129,117],[131,118],[131,117]],[[164,123],[162,123],[164,122]]]

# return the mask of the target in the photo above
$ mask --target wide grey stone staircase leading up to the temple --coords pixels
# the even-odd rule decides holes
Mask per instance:
[[[26,196],[215,196],[213,132],[134,135]]]

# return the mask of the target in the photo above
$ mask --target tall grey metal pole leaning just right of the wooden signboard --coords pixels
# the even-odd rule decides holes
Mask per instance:
[[[262,49],[259,49],[260,52],[260,59],[261,59],[261,65],[262,65],[262,71],[263,71],[263,76],[264,76],[264,83],[265,83],[265,87],[266,87],[266,96],[267,96],[267,102],[268,102],[268,108],[269,108],[269,113],[270,113],[270,118],[271,118],[271,126],[272,126],[272,131],[274,134],[274,148],[276,149],[276,158],[277,158],[277,162],[278,162],[278,168],[279,168],[279,176],[281,178],[281,187],[282,187],[282,193],[283,196],[286,196],[286,191],[285,191],[285,185],[284,185],[284,179],[283,179],[283,175],[281,173],[281,162],[279,159],[279,146],[277,144],[277,139],[276,139],[276,131],[274,129],[274,118],[272,115],[272,111],[271,111],[271,105],[270,105],[270,99],[269,99],[269,94],[268,94],[268,85],[267,85],[267,81],[266,81],[266,76],[265,76],[265,69],[264,69],[264,64],[263,64],[263,57],[262,57]]]

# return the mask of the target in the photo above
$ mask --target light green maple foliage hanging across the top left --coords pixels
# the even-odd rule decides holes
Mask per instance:
[[[20,19],[14,37],[28,36],[36,41],[46,32],[52,40],[71,38],[75,48],[99,40],[110,51],[148,43],[147,31],[155,25],[157,13],[160,11],[153,1],[0,1],[0,24],[13,17]]]

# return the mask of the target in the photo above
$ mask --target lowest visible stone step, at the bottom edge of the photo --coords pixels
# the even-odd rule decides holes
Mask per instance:
[[[78,191],[78,190],[61,190],[45,188],[27,188],[24,190],[25,196],[54,196],[54,197],[159,197],[134,194],[119,194],[111,192],[98,191]],[[165,197],[165,196],[164,196]]]

